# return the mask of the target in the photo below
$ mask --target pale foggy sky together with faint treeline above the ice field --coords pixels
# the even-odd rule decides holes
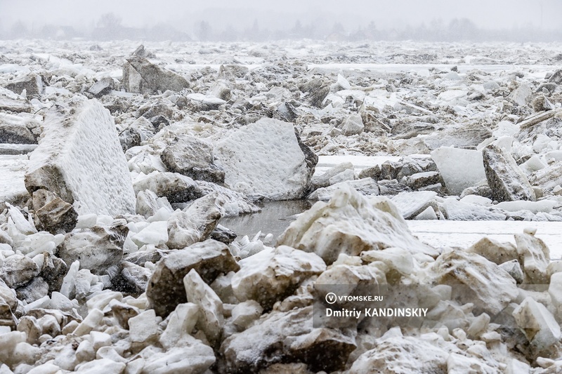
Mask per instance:
[[[531,40],[560,40],[562,1],[446,0],[306,1],[270,4],[255,0],[25,1],[0,0],[0,37],[65,39],[265,40],[325,39],[334,33],[355,39],[408,39],[430,30],[427,39],[502,39],[507,30],[532,30]],[[107,37],[100,29],[107,29]],[[115,32],[126,29],[122,33]],[[452,30],[451,30],[452,29]],[[97,30],[97,34],[96,34]],[[143,32],[134,32],[143,30]],[[155,31],[157,30],[157,31]],[[365,32],[367,30],[367,32]],[[421,30],[421,31],[420,31]],[[448,31],[447,31],[448,30]],[[505,35],[494,34],[503,31]],[[486,34],[492,32],[491,34]],[[167,36],[167,37],[166,37]],[[443,39],[441,38],[441,39]]]

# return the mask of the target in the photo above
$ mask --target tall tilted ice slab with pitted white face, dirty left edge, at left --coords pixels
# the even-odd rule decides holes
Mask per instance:
[[[110,112],[97,100],[51,113],[25,175],[30,193],[48,189],[80,215],[135,213],[136,197]]]

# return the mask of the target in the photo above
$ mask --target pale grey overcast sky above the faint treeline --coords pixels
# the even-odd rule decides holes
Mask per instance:
[[[429,25],[431,20],[449,22],[469,18],[478,27],[542,27],[562,29],[562,0],[0,0],[4,29],[24,20],[27,25],[45,24],[88,27],[103,13],[115,13],[123,25],[146,27],[169,22],[178,27],[206,20],[214,27],[288,29],[296,20],[339,21],[353,29],[374,21],[379,27]]]

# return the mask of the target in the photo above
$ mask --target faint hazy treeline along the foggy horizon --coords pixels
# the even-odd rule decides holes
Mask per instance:
[[[471,20],[455,18],[450,22],[433,20],[429,25],[416,27],[380,28],[375,22],[355,29],[346,29],[339,22],[332,25],[304,24],[299,20],[287,29],[260,27],[256,20],[251,27],[236,28],[232,25],[214,27],[206,20],[192,23],[186,32],[164,22],[148,28],[126,27],[113,13],[102,15],[96,25],[77,29],[69,26],[44,25],[30,27],[22,21],[9,29],[1,29],[0,39],[142,39],[150,41],[268,41],[281,39],[315,39],[329,41],[360,40],[419,40],[419,41],[562,41],[562,31],[537,27],[511,29],[481,29]]]

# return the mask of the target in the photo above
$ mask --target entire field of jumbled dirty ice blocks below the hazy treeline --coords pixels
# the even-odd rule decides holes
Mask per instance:
[[[150,43],[142,77],[137,47],[0,47],[1,139],[42,137],[109,213],[21,189],[33,146],[0,156],[1,191],[22,192],[0,201],[0,372],[562,370],[560,44]],[[28,76],[42,88],[5,88]],[[48,135],[60,111],[61,132],[89,125],[79,142]],[[136,209],[85,171],[136,181]],[[515,176],[537,201],[499,201]],[[294,196],[328,201],[254,213]],[[426,318],[319,326],[334,284],[419,286],[390,300]]]

